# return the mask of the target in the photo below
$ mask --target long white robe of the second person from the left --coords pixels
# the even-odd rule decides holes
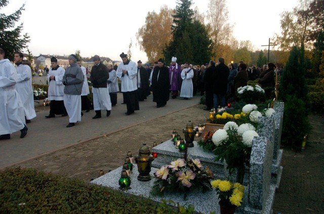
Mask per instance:
[[[28,65],[20,64],[16,66],[17,70],[17,92],[24,106],[24,112],[27,120],[36,117],[34,109],[34,94],[31,84],[31,69]]]

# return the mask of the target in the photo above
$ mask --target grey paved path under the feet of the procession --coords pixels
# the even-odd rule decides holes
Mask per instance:
[[[127,111],[126,105],[120,104],[123,95],[118,93],[118,102],[112,107],[109,117],[105,117],[106,112],[102,111],[102,118],[94,120],[92,119],[95,115],[94,111],[84,112],[82,121],[77,122],[71,128],[66,128],[68,117],[57,116],[46,119],[45,116],[49,114],[49,111],[37,112],[37,117],[27,124],[28,134],[25,138],[20,139],[20,132],[15,132],[11,135],[10,140],[0,141],[0,169],[38,155],[185,109],[200,101],[199,95],[189,100],[182,98],[170,99],[165,107],[156,108],[156,103],[152,101],[152,98],[152,95],[149,95],[146,101],[140,102],[140,111],[126,116],[124,114]]]

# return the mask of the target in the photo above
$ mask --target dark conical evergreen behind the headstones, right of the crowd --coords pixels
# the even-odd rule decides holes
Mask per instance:
[[[302,99],[307,106],[309,101],[305,73],[304,47],[297,48],[294,46],[290,52],[284,72],[281,75],[278,92],[279,99],[286,102],[288,95],[292,95]]]

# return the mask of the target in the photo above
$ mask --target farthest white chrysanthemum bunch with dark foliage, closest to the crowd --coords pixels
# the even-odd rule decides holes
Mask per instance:
[[[247,103],[256,103],[265,100],[264,90],[260,85],[247,85],[237,88],[237,97]]]

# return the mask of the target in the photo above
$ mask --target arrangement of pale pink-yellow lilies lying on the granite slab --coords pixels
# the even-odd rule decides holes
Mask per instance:
[[[151,193],[164,191],[184,191],[197,188],[203,191],[211,189],[210,180],[214,174],[208,167],[203,167],[199,159],[179,158],[170,165],[161,167],[154,173],[155,181]],[[186,196],[186,195],[185,195]]]

